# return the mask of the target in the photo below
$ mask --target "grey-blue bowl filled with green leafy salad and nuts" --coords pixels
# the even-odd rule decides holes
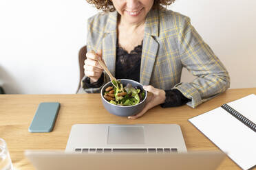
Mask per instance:
[[[113,86],[113,84],[116,86]],[[127,79],[108,82],[101,88],[101,99],[108,112],[121,117],[138,114],[145,106],[147,91],[142,84]]]

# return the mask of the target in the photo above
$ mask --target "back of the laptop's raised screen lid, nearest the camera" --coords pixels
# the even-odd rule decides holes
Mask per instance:
[[[220,151],[186,153],[109,153],[76,154],[64,151],[25,151],[37,170],[211,170],[225,158]]]

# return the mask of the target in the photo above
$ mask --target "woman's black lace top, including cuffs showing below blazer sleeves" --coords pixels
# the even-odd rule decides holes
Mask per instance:
[[[140,60],[142,54],[142,44],[134,48],[130,53],[122,49],[119,45],[116,47],[116,79],[130,79],[140,82]],[[104,82],[103,74],[98,82],[89,83],[89,77],[85,79],[85,86],[100,87]],[[165,102],[161,104],[162,108],[182,106],[190,99],[187,99],[179,90],[165,90]]]

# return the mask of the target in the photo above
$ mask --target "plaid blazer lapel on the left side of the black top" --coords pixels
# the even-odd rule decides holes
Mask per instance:
[[[109,12],[102,49],[103,60],[113,76],[116,72],[116,24],[117,12]]]

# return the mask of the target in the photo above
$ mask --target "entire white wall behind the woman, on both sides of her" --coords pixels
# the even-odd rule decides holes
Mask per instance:
[[[170,7],[191,23],[224,62],[231,88],[256,87],[256,1],[176,0]],[[7,93],[75,93],[85,0],[0,0],[0,84]],[[182,81],[193,79],[187,71]]]

